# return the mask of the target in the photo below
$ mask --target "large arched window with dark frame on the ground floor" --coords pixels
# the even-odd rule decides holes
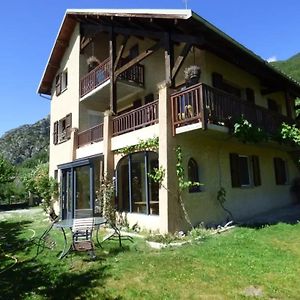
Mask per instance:
[[[158,183],[148,174],[158,168],[155,152],[136,152],[124,156],[116,168],[117,206],[120,211],[159,214]]]

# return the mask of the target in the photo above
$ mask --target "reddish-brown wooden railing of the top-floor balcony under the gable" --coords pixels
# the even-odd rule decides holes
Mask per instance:
[[[88,94],[103,82],[110,78],[110,59],[107,58],[94,70],[86,74],[80,80],[80,97]],[[140,86],[144,85],[144,66],[136,64],[128,70],[121,73],[119,79],[133,82]]]

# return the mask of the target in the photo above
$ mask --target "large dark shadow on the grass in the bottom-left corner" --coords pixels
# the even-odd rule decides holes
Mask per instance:
[[[50,264],[21,262],[0,277],[1,297],[25,299],[38,295],[45,299],[90,299],[91,288],[97,287],[99,299],[116,299],[105,291],[106,269],[107,266],[100,265],[84,272],[62,272]]]

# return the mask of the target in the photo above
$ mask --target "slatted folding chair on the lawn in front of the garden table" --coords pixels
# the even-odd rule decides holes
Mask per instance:
[[[88,251],[95,258],[93,243],[94,218],[74,219],[72,227],[72,250]]]

